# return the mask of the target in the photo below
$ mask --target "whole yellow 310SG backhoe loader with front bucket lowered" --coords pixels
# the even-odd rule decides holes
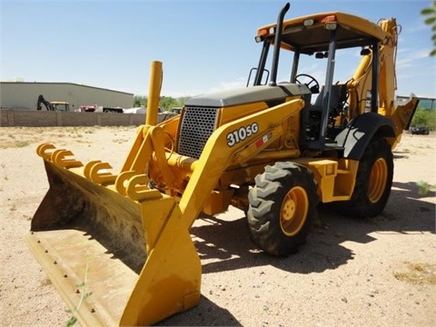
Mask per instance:
[[[384,209],[391,151],[418,104],[395,104],[399,25],[341,12],[284,20],[289,7],[257,30],[253,83],[193,97],[161,124],[154,61],[146,122],[119,172],[37,147],[50,188],[25,240],[65,302],[84,300],[82,325],[150,325],[196,305],[202,266],[190,229],[202,212],[243,209],[253,242],[282,256],[304,243],[320,202],[360,217]],[[333,83],[342,52],[362,60]],[[304,71],[313,66],[324,67],[322,85]]]

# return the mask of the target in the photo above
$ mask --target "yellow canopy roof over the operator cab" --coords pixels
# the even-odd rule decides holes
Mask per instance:
[[[314,23],[305,26],[304,21],[313,19]],[[288,50],[300,50],[303,54],[327,51],[329,49],[331,31],[325,29],[325,22],[336,22],[337,48],[349,48],[384,42],[390,35],[380,25],[356,16],[341,12],[328,12],[305,15],[283,21],[282,47]],[[271,38],[275,34],[276,24],[265,25],[257,30],[257,36]]]

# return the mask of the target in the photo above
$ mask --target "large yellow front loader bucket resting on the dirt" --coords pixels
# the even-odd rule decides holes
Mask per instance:
[[[172,197],[144,175],[124,174],[120,193],[122,174],[95,183],[89,166],[40,155],[50,189],[25,241],[82,325],[150,325],[199,302],[200,259]]]

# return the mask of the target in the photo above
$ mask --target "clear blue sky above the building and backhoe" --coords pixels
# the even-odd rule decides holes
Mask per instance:
[[[293,0],[286,18],[325,11],[401,25],[398,95],[436,97],[431,0]],[[245,85],[257,65],[259,26],[285,1],[0,0],[1,81],[70,82],[146,95],[150,63],[163,62],[162,95],[179,97]],[[355,65],[336,65],[351,77]],[[310,73],[310,72],[308,72]]]

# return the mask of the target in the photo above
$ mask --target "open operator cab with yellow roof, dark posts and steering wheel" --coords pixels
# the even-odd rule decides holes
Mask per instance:
[[[378,60],[371,58],[372,55],[378,56],[379,42],[387,39],[387,35],[381,28],[374,29],[374,25],[366,19],[340,12],[283,21],[288,9],[289,4],[283,7],[276,24],[258,29],[255,40],[263,43],[263,50],[254,69],[253,81],[252,71],[249,83],[253,82],[253,86],[305,84],[312,95],[309,101],[304,99],[301,148],[323,151],[329,147],[340,147],[335,142],[336,135],[352,118],[363,113],[363,107],[365,112],[378,110],[377,74],[370,76],[372,84],[363,97],[353,89],[353,83],[362,76],[342,76],[342,69],[345,69],[345,74],[353,72],[359,61],[362,63],[362,56],[367,56],[366,62],[372,67],[372,72],[378,72]],[[280,47],[274,46],[279,44]],[[271,45],[273,54],[269,58]],[[356,64],[351,65],[352,60]],[[265,69],[267,63],[271,64],[271,72]],[[277,83],[278,76],[284,82]],[[354,97],[352,108],[349,101],[351,94]]]

